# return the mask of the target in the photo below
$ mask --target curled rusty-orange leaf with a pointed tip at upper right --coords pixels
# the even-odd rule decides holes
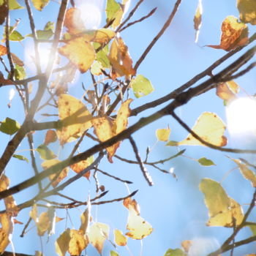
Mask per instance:
[[[238,46],[248,43],[248,28],[246,24],[239,23],[234,16],[227,16],[222,23],[222,37],[220,45],[207,45],[208,47],[222,50],[234,50]]]

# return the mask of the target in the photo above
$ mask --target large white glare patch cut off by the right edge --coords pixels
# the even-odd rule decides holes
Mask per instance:
[[[244,97],[234,99],[226,108],[227,129],[230,134],[256,131],[256,100]]]

